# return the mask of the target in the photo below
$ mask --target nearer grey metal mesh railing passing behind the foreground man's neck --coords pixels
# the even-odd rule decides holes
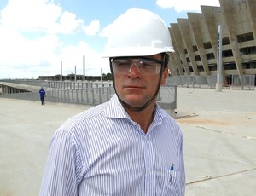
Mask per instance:
[[[22,81],[19,84],[37,84],[38,86],[50,88],[50,90],[46,90],[45,101],[51,102],[98,105],[108,101],[114,94],[113,86],[110,83],[80,82],[78,84],[74,84],[73,82],[34,83],[33,81]],[[0,98],[1,97],[32,101],[40,100],[38,92],[3,94],[0,95]],[[160,107],[168,112],[170,111],[172,115],[174,110],[177,109],[177,86],[161,86],[159,95],[157,96],[157,102],[160,104]]]

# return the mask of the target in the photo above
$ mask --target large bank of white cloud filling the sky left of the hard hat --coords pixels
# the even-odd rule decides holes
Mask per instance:
[[[62,35],[77,36],[75,33],[95,35],[99,32],[100,22],[94,20],[84,26],[84,20],[76,14],[62,10],[49,0],[9,0],[0,10],[0,78],[38,78],[39,75],[63,72],[82,74],[83,55],[86,54],[86,67],[91,75],[99,75],[101,67],[108,61],[102,59],[87,43],[66,43]],[[85,30],[85,31],[84,31]],[[70,44],[70,45],[67,45]]]

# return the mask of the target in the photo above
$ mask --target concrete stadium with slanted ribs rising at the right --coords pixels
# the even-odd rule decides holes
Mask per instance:
[[[217,75],[218,26],[222,27],[222,73],[256,76],[256,1],[219,0],[220,7],[201,5],[169,28],[175,53],[172,76]]]

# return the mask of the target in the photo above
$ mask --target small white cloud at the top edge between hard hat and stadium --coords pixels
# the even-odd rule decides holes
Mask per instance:
[[[175,9],[177,12],[201,12],[201,5],[219,6],[218,0],[157,0],[161,8]]]

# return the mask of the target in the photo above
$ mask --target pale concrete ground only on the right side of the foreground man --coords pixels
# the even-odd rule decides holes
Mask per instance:
[[[186,195],[256,195],[256,92],[178,89]],[[207,180],[208,179],[208,180]]]

